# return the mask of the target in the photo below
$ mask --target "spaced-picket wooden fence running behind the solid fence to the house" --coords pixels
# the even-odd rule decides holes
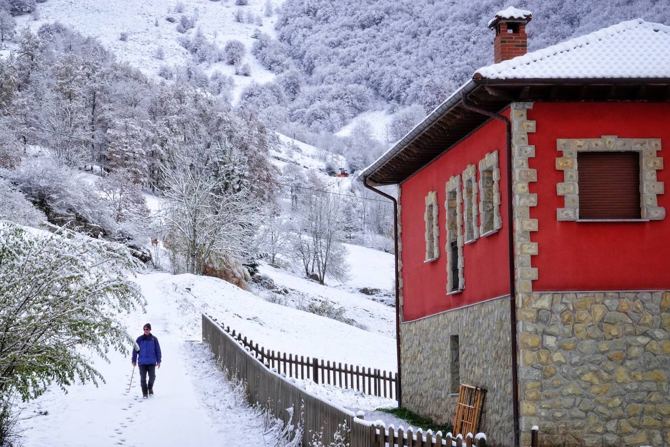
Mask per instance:
[[[253,340],[247,341],[247,337],[240,332],[230,330],[230,326],[220,326],[230,336],[242,342],[243,346],[255,354],[256,358],[270,368],[277,370],[279,374],[295,379],[310,379],[315,383],[335,385],[340,388],[350,388],[362,391],[369,395],[389,397],[398,399],[398,375],[381,369],[359,367],[342,362],[331,362],[274,350],[265,350]]]

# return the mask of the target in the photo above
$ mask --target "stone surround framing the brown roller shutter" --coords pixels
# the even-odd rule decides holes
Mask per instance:
[[[640,206],[639,219],[588,219],[582,221],[663,220],[665,207],[658,206],[658,194],[665,192],[663,182],[658,182],[656,171],[663,169],[660,138],[619,138],[602,135],[600,138],[559,138],[556,149],[563,153],[556,157],[556,169],[563,171],[563,182],[556,184],[556,194],[563,196],[564,208],[556,208],[559,221],[580,221],[578,152],[637,151],[640,153]]]

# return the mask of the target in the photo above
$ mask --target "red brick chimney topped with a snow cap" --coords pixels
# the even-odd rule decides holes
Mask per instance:
[[[496,37],[493,40],[493,60],[496,64],[526,54],[528,43],[526,23],[531,19],[533,19],[531,11],[511,6],[498,11],[488,22],[488,27],[496,30]]]

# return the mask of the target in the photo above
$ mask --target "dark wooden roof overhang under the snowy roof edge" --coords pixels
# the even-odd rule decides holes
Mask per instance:
[[[670,101],[670,78],[472,79],[397,141],[359,178],[371,186],[400,184],[449,151],[490,118],[462,105],[466,94],[480,109],[500,113],[515,102]]]

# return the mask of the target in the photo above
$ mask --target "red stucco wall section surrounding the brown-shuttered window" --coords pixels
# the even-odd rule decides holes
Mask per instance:
[[[670,188],[670,104],[535,103],[528,119],[537,122],[529,133],[535,145],[530,168],[537,169],[538,204],[531,208],[539,231],[531,233],[539,254],[533,256],[539,278],[535,291],[647,290],[670,288],[670,198],[659,196],[667,217],[651,222],[558,222],[563,207],[556,184],[563,172],[555,169],[558,138],[661,138],[665,169],[657,180]]]

